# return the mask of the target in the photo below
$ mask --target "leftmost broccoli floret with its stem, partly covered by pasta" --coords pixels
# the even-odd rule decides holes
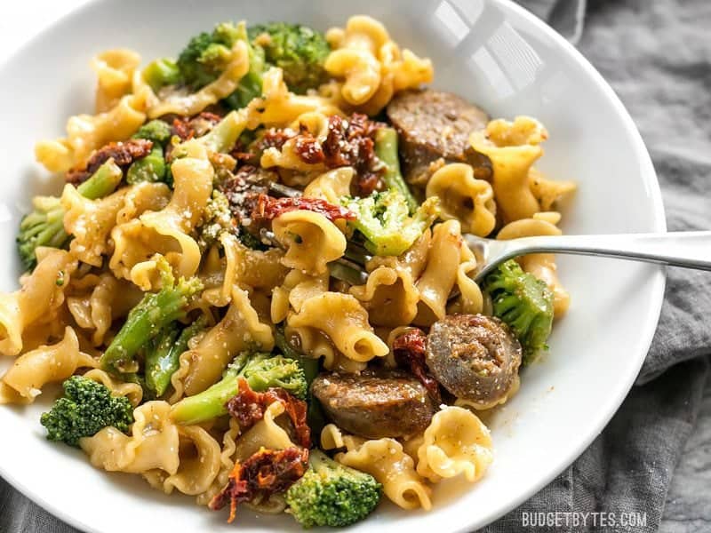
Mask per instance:
[[[123,178],[123,172],[113,159],[102,164],[92,177],[84,181],[76,190],[90,200],[110,195]],[[56,196],[38,196],[35,199],[35,211],[26,215],[20,222],[17,236],[18,251],[22,264],[29,271],[37,266],[36,248],[68,248],[71,237],[64,230],[64,208]]]

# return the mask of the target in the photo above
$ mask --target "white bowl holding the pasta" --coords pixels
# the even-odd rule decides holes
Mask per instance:
[[[570,44],[529,12],[501,0],[106,0],[57,22],[0,67],[0,263],[3,290],[17,286],[14,235],[37,190],[59,192],[33,163],[37,139],[63,132],[68,115],[92,109],[92,54],[127,46],[144,59],[175,54],[189,36],[221,20],[292,20],[316,28],[351,14],[382,20],[395,39],[434,60],[435,86],[471,99],[491,115],[532,115],[550,139],[540,168],[576,179],[565,212],[571,234],[664,231],[659,186],[634,123],[608,84]],[[523,372],[521,391],[492,420],[496,459],[475,486],[435,489],[429,513],[380,505],[358,531],[472,530],[531,497],[586,449],[611,418],[649,348],[662,301],[659,267],[560,258],[571,291],[569,314],[555,324],[550,353]],[[0,360],[0,370],[11,360]],[[38,504],[80,529],[263,531],[299,529],[287,516],[196,507],[165,497],[137,476],[92,468],[79,451],[46,442],[44,402],[0,408],[0,474]],[[139,526],[140,524],[140,526]]]

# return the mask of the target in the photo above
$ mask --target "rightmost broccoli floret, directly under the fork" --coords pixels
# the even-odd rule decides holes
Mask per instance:
[[[510,259],[486,276],[483,289],[491,297],[494,316],[506,322],[523,348],[523,364],[547,348],[553,327],[553,293]]]

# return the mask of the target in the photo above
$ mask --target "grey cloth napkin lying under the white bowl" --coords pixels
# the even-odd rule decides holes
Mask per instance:
[[[555,0],[520,0],[546,18]],[[560,0],[572,2],[573,0]],[[711,3],[590,0],[579,49],[635,119],[659,174],[670,230],[711,228]],[[545,489],[484,530],[520,531],[523,513],[646,513],[656,531],[694,426],[711,354],[711,274],[669,269],[659,329],[637,386],[593,444]],[[536,528],[596,531],[587,527]],[[76,533],[0,480],[0,532]]]

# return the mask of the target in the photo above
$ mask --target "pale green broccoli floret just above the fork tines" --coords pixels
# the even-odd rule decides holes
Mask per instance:
[[[409,216],[407,199],[396,190],[364,198],[344,198],[341,203],[356,213],[348,224],[365,237],[365,248],[379,256],[396,256],[409,249],[439,216],[433,196]]]

